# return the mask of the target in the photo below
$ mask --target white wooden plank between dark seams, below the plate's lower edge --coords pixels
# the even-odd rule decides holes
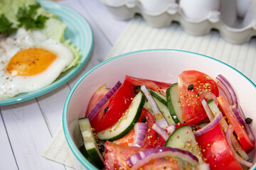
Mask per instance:
[[[51,136],[35,99],[3,106],[1,112],[18,169],[65,169],[41,157]]]

